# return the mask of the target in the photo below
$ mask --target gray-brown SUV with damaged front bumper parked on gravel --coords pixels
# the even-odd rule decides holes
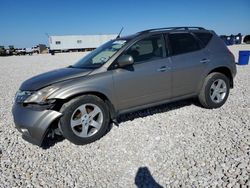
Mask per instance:
[[[74,65],[23,82],[13,116],[23,138],[41,145],[101,138],[119,114],[197,97],[221,107],[233,88],[234,56],[213,31],[158,28],[117,37]]]

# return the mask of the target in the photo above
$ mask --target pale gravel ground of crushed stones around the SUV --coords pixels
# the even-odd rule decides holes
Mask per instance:
[[[0,187],[249,187],[250,66],[215,110],[193,100],[123,115],[120,126],[85,146],[27,143],[11,107],[22,81],[83,53],[0,57]]]

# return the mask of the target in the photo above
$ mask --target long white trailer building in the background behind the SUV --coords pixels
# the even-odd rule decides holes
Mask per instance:
[[[52,51],[91,50],[116,36],[117,34],[49,36],[49,47]]]

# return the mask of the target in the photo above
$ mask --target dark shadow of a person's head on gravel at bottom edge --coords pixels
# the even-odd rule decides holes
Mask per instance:
[[[163,188],[163,186],[155,181],[147,167],[140,167],[138,169],[135,176],[135,185],[137,188]]]

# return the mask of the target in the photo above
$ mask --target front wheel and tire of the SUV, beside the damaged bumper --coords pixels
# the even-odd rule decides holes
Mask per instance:
[[[100,139],[109,128],[107,105],[94,95],[74,98],[65,103],[60,112],[63,114],[59,121],[62,135],[76,145]]]

